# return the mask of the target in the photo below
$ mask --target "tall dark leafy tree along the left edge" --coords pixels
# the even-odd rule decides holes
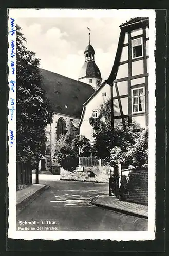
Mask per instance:
[[[34,165],[45,154],[45,127],[53,112],[41,87],[40,60],[27,49],[18,25],[16,32],[17,160]]]

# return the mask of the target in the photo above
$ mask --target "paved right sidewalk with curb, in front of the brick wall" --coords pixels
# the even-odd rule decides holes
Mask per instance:
[[[91,204],[109,210],[119,211],[124,214],[148,218],[148,206],[136,203],[121,201],[116,197],[100,195],[95,197]]]

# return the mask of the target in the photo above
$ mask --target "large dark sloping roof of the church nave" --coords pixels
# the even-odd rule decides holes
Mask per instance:
[[[47,94],[53,111],[80,118],[83,103],[95,90],[89,84],[60,74],[45,69],[41,69],[41,72],[42,87]]]

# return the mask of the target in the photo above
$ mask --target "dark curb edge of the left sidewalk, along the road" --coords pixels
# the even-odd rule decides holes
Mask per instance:
[[[32,195],[21,201],[20,203],[16,204],[16,216],[20,214],[20,212],[27,207],[30,203],[32,203],[43,191],[48,189],[50,185],[45,185],[41,187],[39,190],[35,191]]]

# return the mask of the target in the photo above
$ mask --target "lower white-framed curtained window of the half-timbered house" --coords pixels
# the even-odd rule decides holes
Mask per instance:
[[[132,89],[132,113],[145,111],[145,88]]]

